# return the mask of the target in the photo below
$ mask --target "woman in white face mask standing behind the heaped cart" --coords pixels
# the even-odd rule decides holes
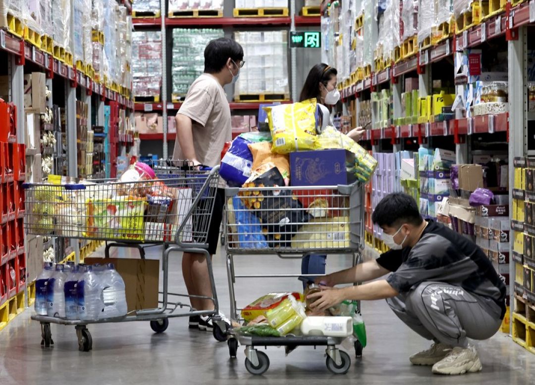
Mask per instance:
[[[316,98],[320,111],[322,112],[323,120],[321,130],[323,131],[327,126],[334,126],[331,118],[331,106],[338,103],[340,100],[340,92],[337,89],[337,74],[336,68],[328,66],[327,64],[316,64],[308,73],[307,80],[305,80],[299,101]],[[347,136],[354,141],[360,140],[364,130],[362,127],[352,129]],[[318,254],[305,255],[301,263],[301,274],[325,274],[325,263],[327,256]],[[314,281],[314,277],[302,278],[303,282]]]

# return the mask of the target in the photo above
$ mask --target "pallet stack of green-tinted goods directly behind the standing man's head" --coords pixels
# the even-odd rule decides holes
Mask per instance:
[[[189,86],[204,72],[204,49],[210,40],[219,37],[224,37],[223,29],[173,29],[173,102],[184,98]],[[240,73],[240,76],[243,74]]]

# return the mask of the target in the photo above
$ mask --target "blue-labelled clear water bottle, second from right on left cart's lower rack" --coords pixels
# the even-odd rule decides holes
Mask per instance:
[[[86,272],[80,276],[77,291],[80,320],[97,320],[100,318],[104,308],[102,287],[100,279],[93,271],[93,266],[87,266]]]

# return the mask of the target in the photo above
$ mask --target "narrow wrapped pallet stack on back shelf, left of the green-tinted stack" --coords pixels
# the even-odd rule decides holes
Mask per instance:
[[[158,102],[162,86],[162,34],[132,33],[132,94],[135,102]]]

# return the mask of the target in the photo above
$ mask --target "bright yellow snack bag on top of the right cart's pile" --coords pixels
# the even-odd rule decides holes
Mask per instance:
[[[273,137],[271,151],[286,154],[320,148],[316,134],[316,99],[264,107]]]

